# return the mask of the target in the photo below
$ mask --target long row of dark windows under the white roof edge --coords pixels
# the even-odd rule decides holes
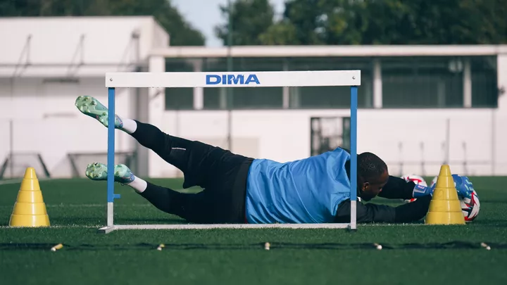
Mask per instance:
[[[358,107],[373,108],[373,61],[364,57],[232,58],[232,71],[361,70]],[[472,107],[496,108],[496,56],[415,56],[380,58],[384,108],[463,108],[463,77],[470,61]],[[226,72],[227,58],[167,58],[168,72]],[[204,109],[350,108],[350,87],[204,88]],[[193,88],[165,89],[166,110],[192,110]]]

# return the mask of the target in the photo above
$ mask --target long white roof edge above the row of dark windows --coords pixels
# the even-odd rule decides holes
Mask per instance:
[[[227,57],[227,47],[173,46],[154,49],[151,56],[167,58]],[[507,54],[507,45],[431,46],[233,46],[233,57],[320,57],[320,56],[496,56]]]

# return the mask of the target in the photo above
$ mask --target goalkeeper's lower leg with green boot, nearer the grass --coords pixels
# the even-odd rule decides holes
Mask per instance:
[[[89,164],[86,172],[89,179],[96,181],[107,180],[107,166],[103,163]],[[188,222],[212,222],[213,210],[206,200],[204,192],[185,194],[173,189],[165,188],[136,177],[126,165],[115,165],[115,182],[132,187],[138,194],[146,198],[158,210],[177,215]]]

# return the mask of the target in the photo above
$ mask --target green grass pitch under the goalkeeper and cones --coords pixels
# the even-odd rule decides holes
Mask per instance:
[[[150,179],[180,189],[180,179]],[[507,177],[471,177],[480,197],[466,226],[124,230],[106,223],[106,183],[41,181],[51,227],[8,228],[19,183],[0,184],[1,284],[506,284]],[[118,184],[117,184],[118,185]],[[116,224],[181,223],[115,186]],[[396,204],[382,198],[375,203]],[[264,243],[270,242],[270,251]],[[487,251],[480,243],[489,244]],[[63,243],[63,248],[50,248]],[[165,244],[162,251],[156,248]],[[380,243],[378,251],[373,243]]]

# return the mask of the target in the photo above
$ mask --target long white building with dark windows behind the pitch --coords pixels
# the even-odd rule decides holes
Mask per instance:
[[[0,37],[10,43],[0,53],[0,129],[8,134],[0,139],[0,160],[11,151],[40,153],[54,177],[71,174],[68,153],[103,153],[83,156],[78,172],[105,162],[106,129],[73,106],[78,95],[106,102],[104,72],[220,72],[228,54],[234,71],[361,69],[358,151],[377,153],[395,175],[436,175],[446,161],[457,173],[507,175],[501,91],[507,46],[171,47],[151,18],[7,18],[0,20]],[[328,131],[342,135],[346,91],[239,87],[228,112],[225,90],[168,89],[163,96],[159,89],[120,89],[117,110],[224,148],[230,126],[233,152],[287,161],[311,155],[311,118],[339,117]],[[117,151],[137,151],[142,175],[180,175],[117,134]],[[330,146],[341,140],[330,139]]]

